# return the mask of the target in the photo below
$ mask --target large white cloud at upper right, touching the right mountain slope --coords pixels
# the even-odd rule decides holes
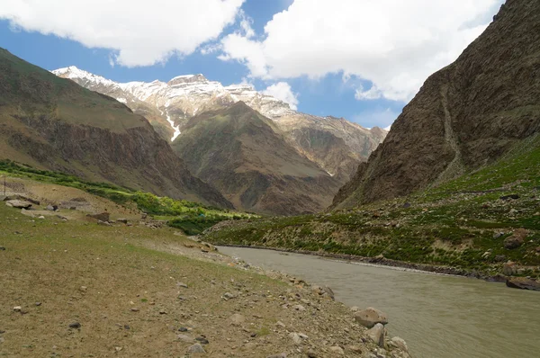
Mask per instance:
[[[502,0],[295,0],[266,23],[264,40],[232,33],[224,60],[263,79],[343,71],[373,83],[359,99],[408,101],[486,28]]]

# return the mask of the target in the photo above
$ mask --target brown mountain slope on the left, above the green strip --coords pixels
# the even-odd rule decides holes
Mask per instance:
[[[0,49],[0,158],[231,207],[195,178],[148,121]]]

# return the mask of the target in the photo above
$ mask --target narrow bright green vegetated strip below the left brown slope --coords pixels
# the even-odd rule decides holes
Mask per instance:
[[[89,182],[74,175],[40,170],[9,160],[0,160],[0,175],[29,178],[43,183],[81,189],[123,206],[138,209],[151,215],[153,219],[167,221],[169,226],[180,228],[187,235],[199,234],[223,220],[258,218],[253,214],[220,209],[193,201],[159,197],[149,192],[140,192],[111,183]]]

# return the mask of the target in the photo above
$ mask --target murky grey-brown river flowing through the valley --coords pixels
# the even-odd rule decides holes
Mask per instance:
[[[220,247],[248,264],[327,285],[347,306],[381,309],[415,358],[540,357],[540,292],[312,255]]]

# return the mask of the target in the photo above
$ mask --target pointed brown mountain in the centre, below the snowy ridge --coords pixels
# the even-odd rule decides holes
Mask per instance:
[[[339,182],[243,102],[191,118],[173,142],[186,166],[238,209],[272,214],[322,210]]]

